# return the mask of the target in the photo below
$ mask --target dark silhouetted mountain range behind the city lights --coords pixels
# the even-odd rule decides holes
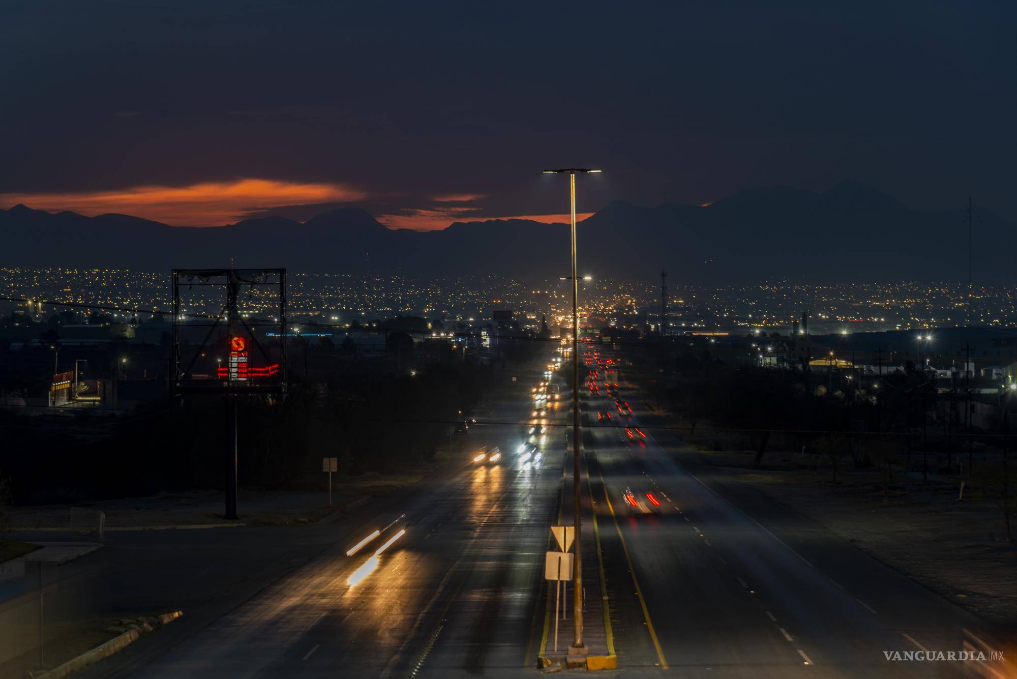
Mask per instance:
[[[972,264],[982,284],[1017,283],[1014,225],[974,210]],[[580,272],[629,281],[736,285],[967,281],[967,211],[913,210],[853,181],[823,192],[739,191],[708,205],[609,203],[579,225]],[[267,217],[213,228],[127,214],[0,209],[0,266],[169,270],[285,266],[294,272],[526,280],[567,275],[569,226],[528,220],[393,230],[342,208],[300,223]]]

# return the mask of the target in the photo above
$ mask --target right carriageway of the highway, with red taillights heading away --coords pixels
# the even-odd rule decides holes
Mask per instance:
[[[635,438],[591,428],[586,448],[627,674],[980,676],[967,663],[889,662],[884,652],[962,651],[964,630],[984,634],[983,623],[644,428],[635,390],[618,397]],[[597,424],[609,410],[618,423],[614,398],[591,397],[586,416]]]

